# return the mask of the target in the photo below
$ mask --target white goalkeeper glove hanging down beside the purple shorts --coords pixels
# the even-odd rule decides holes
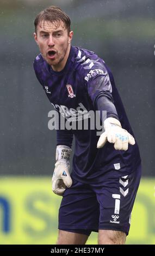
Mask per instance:
[[[52,191],[62,196],[66,186],[72,185],[72,179],[69,173],[71,148],[65,145],[59,145],[56,149],[56,163],[52,177]]]

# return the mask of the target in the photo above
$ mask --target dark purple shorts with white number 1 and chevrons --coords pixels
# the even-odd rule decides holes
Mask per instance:
[[[61,201],[58,228],[85,235],[98,229],[118,230],[128,235],[140,176],[141,166],[131,174],[106,178],[100,183],[73,180]]]

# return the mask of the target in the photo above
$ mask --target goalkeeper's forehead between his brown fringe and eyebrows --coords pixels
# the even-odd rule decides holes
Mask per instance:
[[[65,25],[63,23],[63,21],[45,21],[45,20],[42,20],[39,24],[38,24],[38,32],[40,31],[46,31],[46,32],[53,32],[53,31],[56,31],[56,30],[63,30],[65,31],[66,28],[65,28]]]

